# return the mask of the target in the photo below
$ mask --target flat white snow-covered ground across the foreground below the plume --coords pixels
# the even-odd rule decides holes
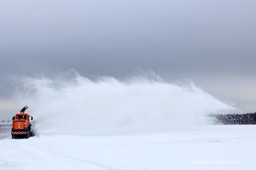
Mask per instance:
[[[189,130],[123,135],[49,131],[29,139],[11,139],[9,135],[0,140],[0,169],[254,169],[255,131],[255,125],[198,125]]]

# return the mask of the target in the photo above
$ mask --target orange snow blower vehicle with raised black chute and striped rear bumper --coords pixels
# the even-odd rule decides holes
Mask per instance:
[[[17,113],[12,117],[12,139],[16,138],[26,138],[34,136],[34,130],[32,130],[32,125],[30,124],[30,117],[33,117],[24,113],[28,106],[21,109],[20,113]]]

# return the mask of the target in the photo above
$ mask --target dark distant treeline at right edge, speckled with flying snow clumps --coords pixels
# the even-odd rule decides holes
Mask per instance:
[[[210,117],[215,117],[220,123],[224,125],[255,125],[256,112],[245,114],[210,114]]]

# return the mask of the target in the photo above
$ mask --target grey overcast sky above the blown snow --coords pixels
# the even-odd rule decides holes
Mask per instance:
[[[190,78],[256,111],[255,0],[0,0],[0,72]]]

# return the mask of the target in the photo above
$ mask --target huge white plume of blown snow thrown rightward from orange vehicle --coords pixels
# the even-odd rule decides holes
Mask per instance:
[[[154,77],[154,78],[152,78]],[[39,131],[80,135],[168,131],[204,123],[204,115],[230,109],[190,84],[158,76],[89,80],[78,74],[23,78],[20,107],[29,106]],[[48,132],[49,132],[48,131]]]

